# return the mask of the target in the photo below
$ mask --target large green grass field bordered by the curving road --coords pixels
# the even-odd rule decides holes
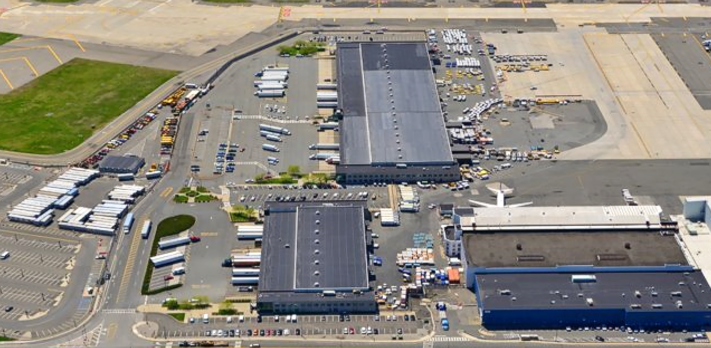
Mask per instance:
[[[178,72],[74,59],[0,95],[0,149],[75,148]]]

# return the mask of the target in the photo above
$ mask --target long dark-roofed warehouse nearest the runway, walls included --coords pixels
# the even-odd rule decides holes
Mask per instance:
[[[339,43],[346,183],[459,179],[424,43]]]

